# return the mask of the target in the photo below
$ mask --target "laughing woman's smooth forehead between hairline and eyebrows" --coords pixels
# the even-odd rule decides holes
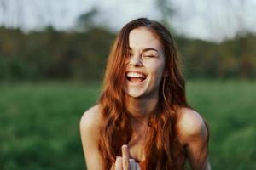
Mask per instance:
[[[161,43],[152,31],[145,27],[133,29],[129,34],[132,49],[155,48],[161,50]]]

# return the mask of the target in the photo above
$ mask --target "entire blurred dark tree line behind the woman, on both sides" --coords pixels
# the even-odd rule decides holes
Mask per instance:
[[[87,31],[24,33],[0,27],[0,82],[101,80],[115,35],[91,26]],[[175,37],[187,78],[253,78],[256,36],[221,43]]]

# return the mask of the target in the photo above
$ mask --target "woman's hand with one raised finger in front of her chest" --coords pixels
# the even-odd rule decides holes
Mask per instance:
[[[122,145],[122,156],[117,156],[114,163],[114,170],[140,170],[139,164],[130,159],[127,145]]]

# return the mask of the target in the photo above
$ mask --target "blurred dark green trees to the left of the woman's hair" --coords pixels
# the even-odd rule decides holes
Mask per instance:
[[[100,28],[74,33],[24,34],[0,28],[0,81],[99,80],[113,34]]]

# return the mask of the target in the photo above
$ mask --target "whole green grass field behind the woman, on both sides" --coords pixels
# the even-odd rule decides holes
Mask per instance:
[[[84,169],[79,119],[97,83],[0,85],[0,169]],[[188,82],[211,129],[212,169],[256,169],[256,82]]]

